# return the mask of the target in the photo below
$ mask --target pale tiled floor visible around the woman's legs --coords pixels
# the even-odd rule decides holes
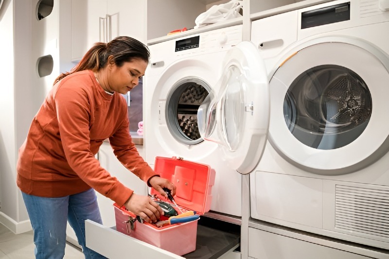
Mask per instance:
[[[35,259],[33,231],[14,234],[0,224],[0,259]],[[84,259],[84,254],[70,243],[66,243],[64,259]]]

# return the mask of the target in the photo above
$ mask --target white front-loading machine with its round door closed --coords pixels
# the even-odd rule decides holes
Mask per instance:
[[[389,249],[388,8],[336,0],[252,21],[270,89],[253,221]]]

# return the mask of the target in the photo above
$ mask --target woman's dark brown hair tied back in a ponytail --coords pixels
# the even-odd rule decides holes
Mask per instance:
[[[141,58],[149,62],[150,52],[146,45],[127,36],[119,36],[108,43],[97,42],[88,50],[81,61],[70,72],[61,73],[54,81],[55,85],[62,78],[74,72],[90,69],[96,72],[106,66],[108,57],[112,55],[116,66],[123,66],[133,58]]]

